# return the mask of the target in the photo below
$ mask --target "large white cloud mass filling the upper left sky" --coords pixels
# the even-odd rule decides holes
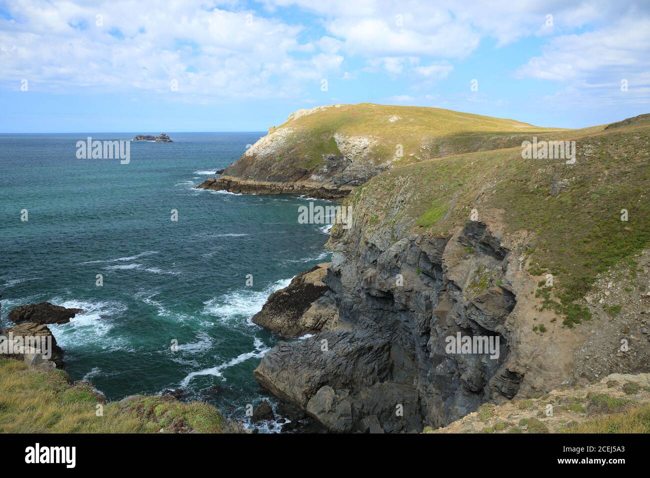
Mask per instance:
[[[314,52],[298,40],[300,25],[200,0],[164,8],[155,1],[27,0],[8,12],[15,20],[0,19],[0,81],[13,88],[26,78],[31,90],[291,96],[305,79],[338,73],[343,62],[334,38]]]

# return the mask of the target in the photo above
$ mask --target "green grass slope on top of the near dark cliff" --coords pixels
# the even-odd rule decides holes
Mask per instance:
[[[551,273],[554,280],[553,287],[538,289],[542,309],[572,328],[591,319],[583,298],[597,276],[617,264],[632,271],[634,257],[650,245],[650,123],[553,134],[577,141],[575,165],[522,159],[521,146],[452,155],[383,172],[344,204],[374,211],[380,223],[373,230],[390,227],[398,239],[424,232],[448,237],[469,222],[472,209],[479,221],[497,215],[505,234],[532,232],[526,269]],[[586,144],[593,156],[582,155]],[[569,188],[551,196],[551,185],[560,179]],[[627,222],[621,209],[629,213]]]

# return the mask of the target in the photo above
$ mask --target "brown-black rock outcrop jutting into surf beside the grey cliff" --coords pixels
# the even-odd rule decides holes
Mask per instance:
[[[324,325],[322,321],[333,321],[332,317],[317,317],[317,312],[305,315],[313,302],[328,289],[322,282],[328,265],[318,264],[309,271],[301,272],[287,287],[272,293],[262,310],[253,315],[253,322],[285,338],[296,338],[321,330]]]

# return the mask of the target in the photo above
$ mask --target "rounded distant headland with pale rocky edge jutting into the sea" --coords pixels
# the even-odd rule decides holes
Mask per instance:
[[[564,130],[437,108],[360,103],[299,110],[202,189],[343,198],[376,174]]]

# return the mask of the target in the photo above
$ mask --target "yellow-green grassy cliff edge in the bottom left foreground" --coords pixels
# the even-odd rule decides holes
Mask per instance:
[[[222,433],[228,425],[211,405],[143,395],[105,403],[87,382],[70,384],[65,371],[0,360],[1,433]]]

